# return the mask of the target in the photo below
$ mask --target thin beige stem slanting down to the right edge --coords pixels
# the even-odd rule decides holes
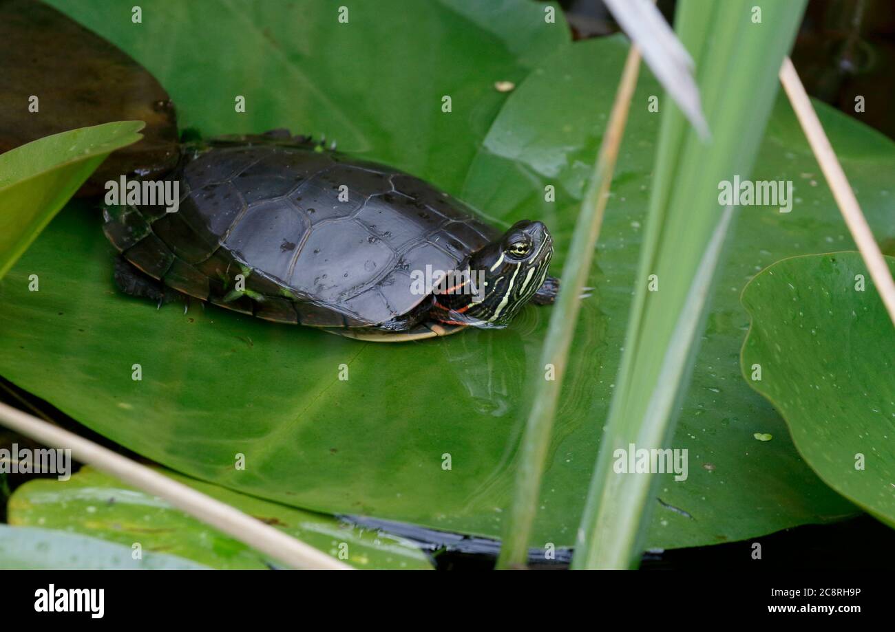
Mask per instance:
[[[861,257],[864,258],[876,291],[882,297],[882,303],[889,312],[892,324],[895,324],[895,281],[892,281],[889,266],[882,258],[880,247],[874,240],[874,233],[870,231],[870,226],[867,225],[867,220],[861,213],[861,206],[857,203],[855,192],[851,190],[839,159],[833,152],[830,140],[827,139],[823,126],[814,112],[814,106],[811,105],[811,100],[805,92],[805,87],[798,79],[796,67],[792,65],[788,57],[784,58],[783,65],[780,66],[780,81],[789,97],[789,103],[796,111],[798,122],[802,124],[802,130],[808,137],[814,157],[821,165],[823,177],[830,185],[833,198],[836,198],[836,204],[840,207],[840,213],[848,225],[848,231],[851,232],[852,239],[855,240],[857,249],[861,252]]]

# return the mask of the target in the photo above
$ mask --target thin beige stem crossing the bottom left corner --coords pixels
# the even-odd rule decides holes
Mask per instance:
[[[248,544],[295,569],[351,569],[347,564],[294,537],[251,518],[225,502],[217,501],[159,474],[153,469],[83,437],[47,424],[28,413],[0,403],[0,423],[35,441],[70,449],[74,459],[116,476],[144,492],[164,498],[176,508]]]

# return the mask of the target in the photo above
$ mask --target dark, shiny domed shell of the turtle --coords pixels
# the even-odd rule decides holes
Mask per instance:
[[[425,181],[301,143],[211,142],[167,180],[177,212],[107,208],[115,247],[177,291],[279,322],[395,328],[425,298],[413,271],[454,270],[497,236]]]

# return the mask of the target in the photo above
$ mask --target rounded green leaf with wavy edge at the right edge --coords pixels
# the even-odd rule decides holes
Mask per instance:
[[[783,259],[742,300],[746,382],[827,485],[895,527],[895,328],[860,254]]]

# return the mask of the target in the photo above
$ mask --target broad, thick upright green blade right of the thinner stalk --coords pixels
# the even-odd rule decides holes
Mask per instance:
[[[693,55],[712,140],[666,107],[635,299],[609,421],[575,546],[573,568],[637,564],[654,477],[616,474],[616,451],[664,448],[695,355],[700,316],[731,211],[720,181],[752,170],[777,93],[777,73],[805,3],[683,0],[678,37]],[[650,291],[655,274],[658,290]],[[673,447],[673,446],[672,446]]]

